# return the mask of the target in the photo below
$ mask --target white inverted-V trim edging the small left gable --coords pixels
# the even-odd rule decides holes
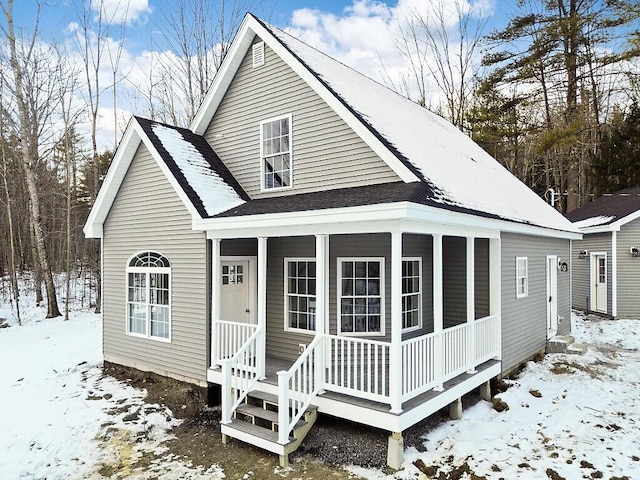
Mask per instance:
[[[87,238],[102,238],[102,226],[107,219],[111,206],[116,199],[118,191],[120,190],[120,185],[122,185],[122,182],[129,171],[129,166],[138,151],[140,143],[143,143],[147,147],[151,156],[156,161],[174,191],[191,214],[191,217],[194,220],[195,218],[200,218],[200,214],[193,206],[193,203],[184,192],[171,170],[169,170],[167,164],[162,160],[162,157],[154,147],[153,143],[151,143],[149,137],[147,137],[135,117],[132,117],[129,121],[129,125],[127,125],[122,141],[116,150],[113,161],[109,166],[104,182],[100,187],[98,197],[96,198],[96,201],[91,208],[91,212],[89,213],[89,217],[84,225],[83,231]]]

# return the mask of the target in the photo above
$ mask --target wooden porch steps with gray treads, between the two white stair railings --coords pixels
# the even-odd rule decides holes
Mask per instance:
[[[318,408],[311,405],[289,435],[289,442],[278,443],[278,397],[254,390],[245,403],[238,406],[231,423],[221,424],[223,442],[226,437],[255,445],[280,456],[280,465],[287,466],[288,455],[295,452],[318,418]]]

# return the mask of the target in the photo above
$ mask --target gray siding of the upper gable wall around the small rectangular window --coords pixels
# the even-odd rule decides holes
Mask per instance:
[[[292,115],[293,189],[260,192],[260,122]],[[205,132],[251,198],[398,181],[397,175],[284,61],[251,49]]]

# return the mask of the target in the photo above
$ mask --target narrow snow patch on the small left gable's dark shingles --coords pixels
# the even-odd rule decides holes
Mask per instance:
[[[187,183],[200,197],[209,216],[217,215],[245,202],[178,130],[157,123],[154,123],[151,128],[173,158]]]

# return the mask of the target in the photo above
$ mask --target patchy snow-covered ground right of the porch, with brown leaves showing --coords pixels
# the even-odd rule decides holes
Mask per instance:
[[[443,472],[466,464],[487,479],[640,479],[640,321],[574,314],[572,330],[589,343],[585,355],[530,362],[498,395],[508,410],[484,401],[465,410],[426,436],[426,452],[407,449],[391,477],[419,477],[421,461]]]

